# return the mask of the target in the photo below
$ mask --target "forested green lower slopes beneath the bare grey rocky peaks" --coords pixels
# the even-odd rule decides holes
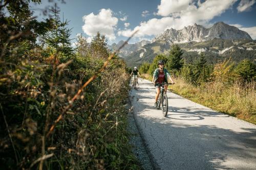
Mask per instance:
[[[152,62],[157,54],[167,54],[170,49],[169,43],[155,41],[143,46],[144,50],[133,52],[124,58],[128,66],[140,65],[143,62]],[[229,40],[215,38],[202,42],[179,43],[183,50],[183,58],[186,62],[193,62],[201,52],[205,53],[209,63],[216,63],[219,60],[231,57],[234,61],[241,61],[245,58],[253,61],[256,58],[256,41],[251,40]],[[143,53],[143,55],[141,55]]]

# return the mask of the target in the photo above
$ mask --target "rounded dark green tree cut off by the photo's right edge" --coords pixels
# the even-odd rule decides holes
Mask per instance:
[[[250,82],[256,80],[256,64],[247,59],[238,63],[234,71],[243,81]]]

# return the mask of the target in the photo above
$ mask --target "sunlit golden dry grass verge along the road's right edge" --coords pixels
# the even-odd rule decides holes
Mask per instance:
[[[215,81],[194,87],[176,78],[172,89],[192,101],[256,124],[256,82],[230,85]]]

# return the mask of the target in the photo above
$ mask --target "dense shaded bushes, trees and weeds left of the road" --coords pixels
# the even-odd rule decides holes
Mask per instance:
[[[38,22],[29,2],[0,4],[0,169],[140,169],[125,63],[100,33],[73,48],[56,6]]]

